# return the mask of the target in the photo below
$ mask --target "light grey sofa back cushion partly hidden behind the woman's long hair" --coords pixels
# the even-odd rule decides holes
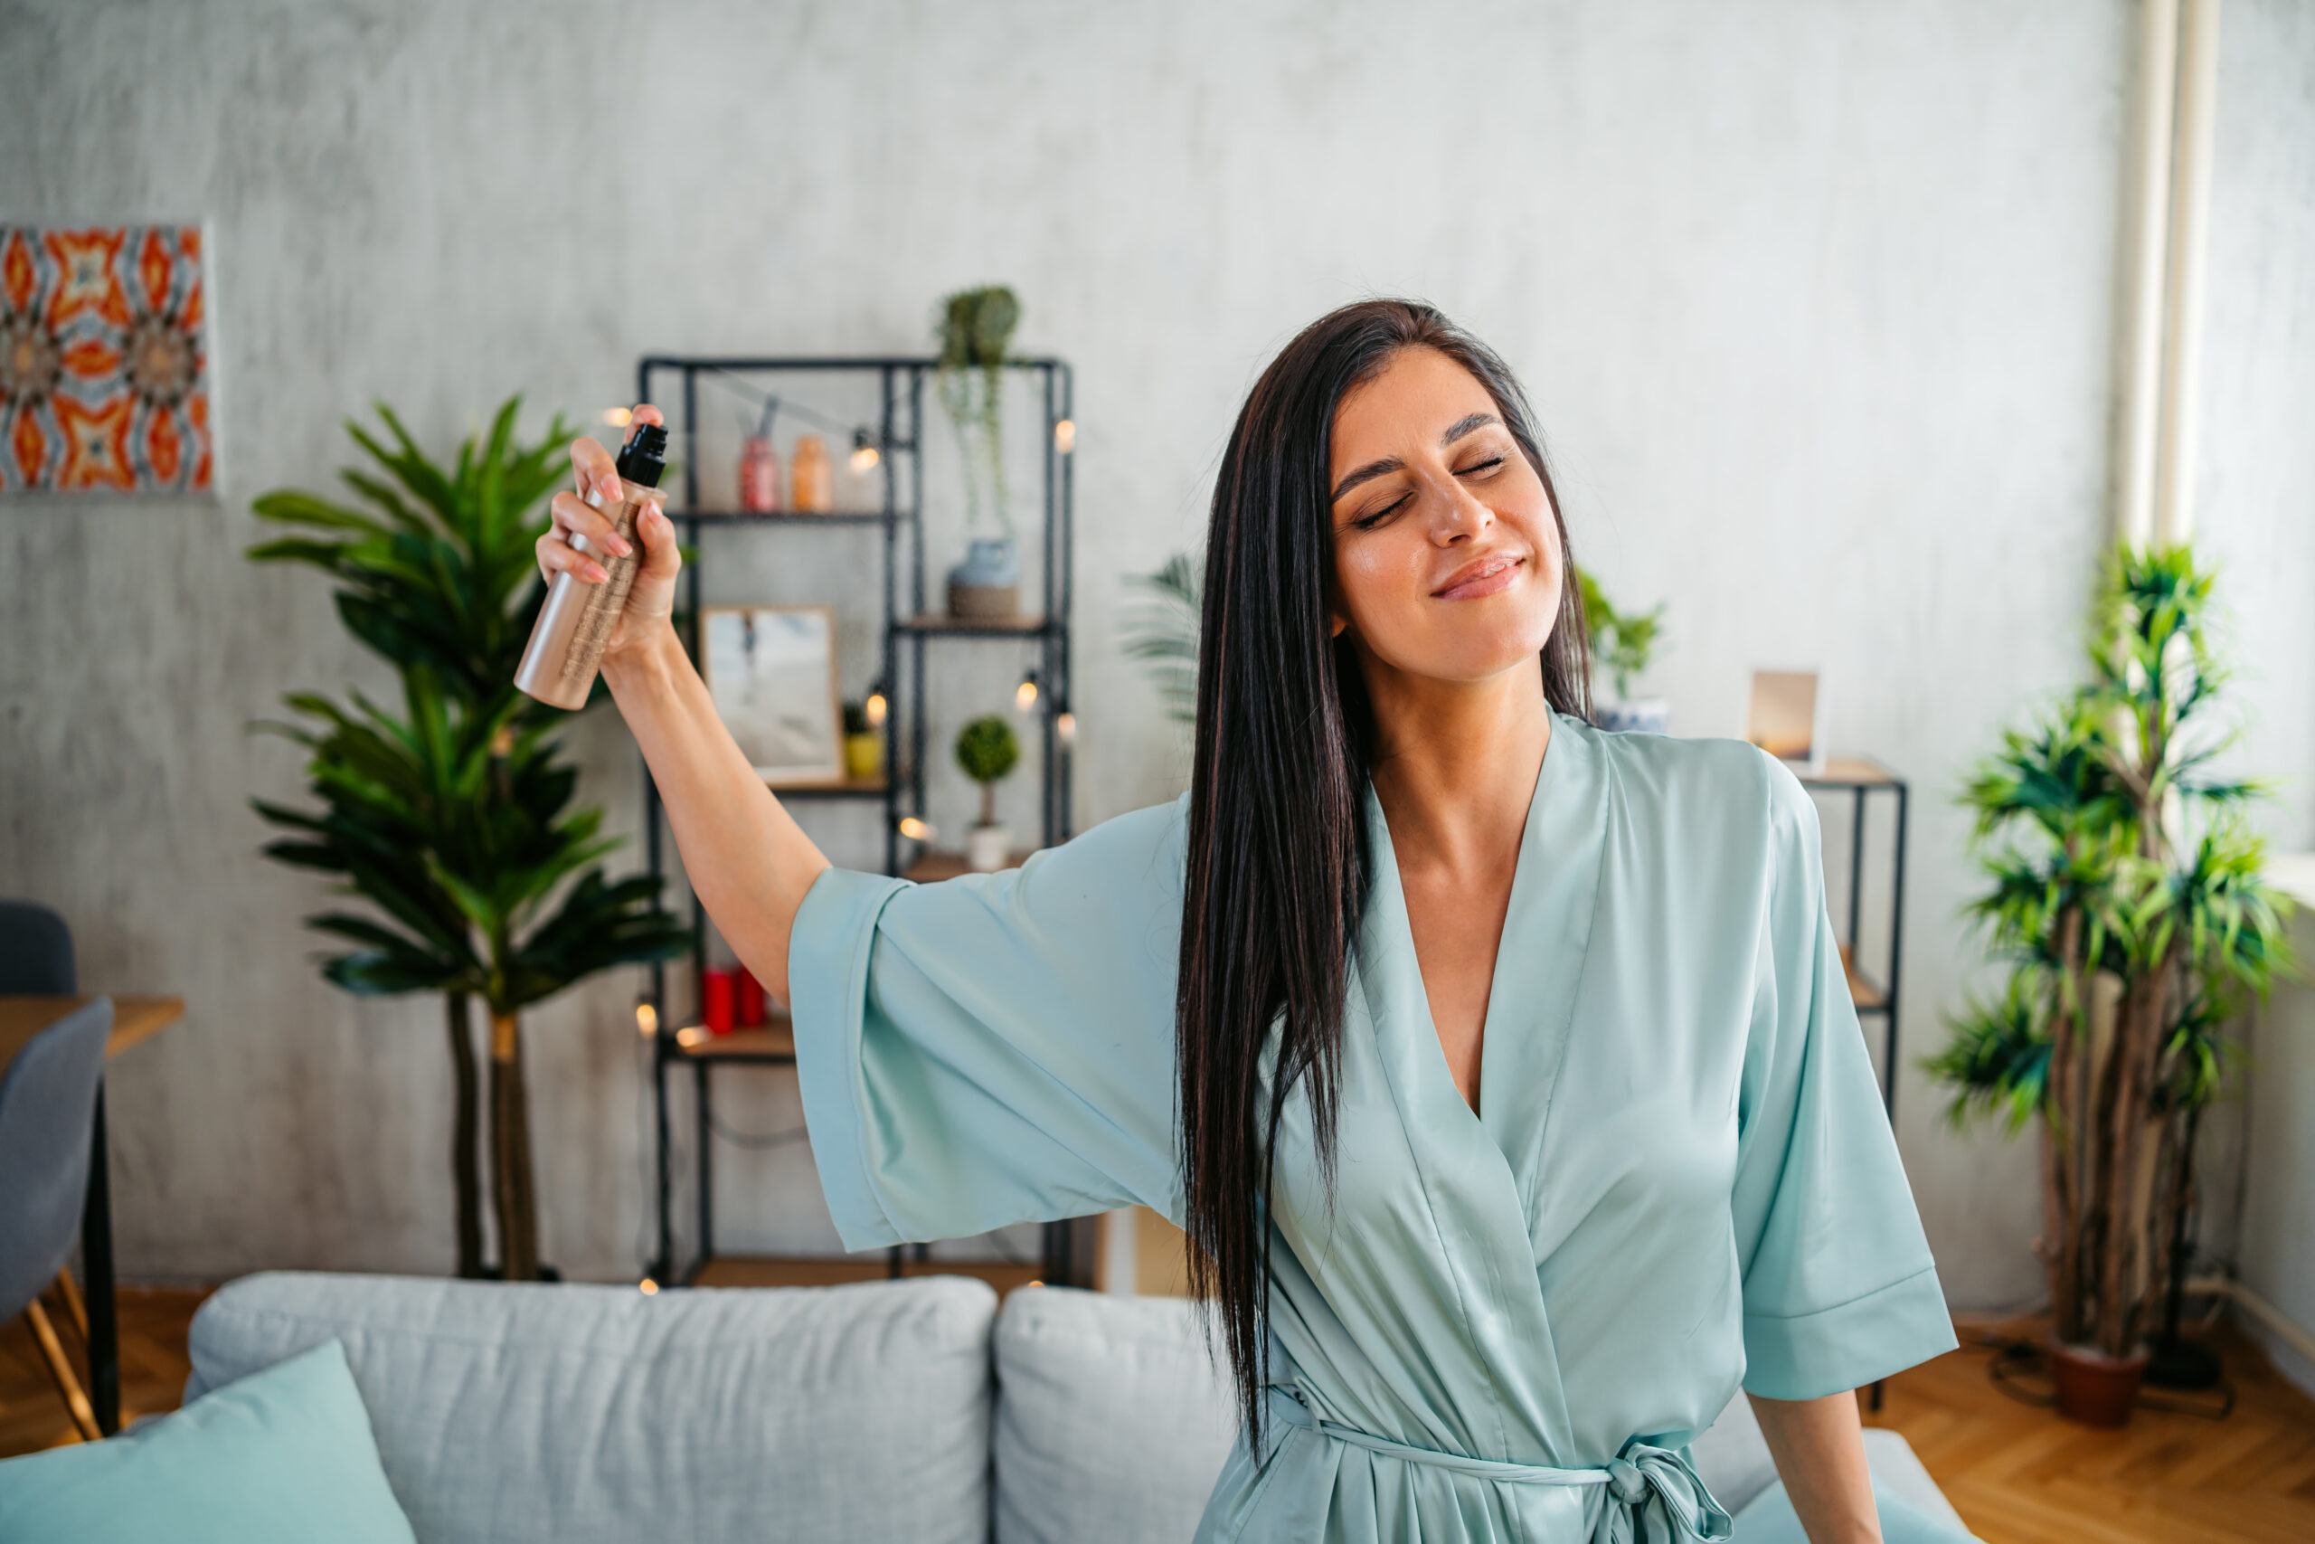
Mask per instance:
[[[1192,1306],[1014,1292],[995,1329],[998,1544],[1181,1544],[1239,1435]]]

